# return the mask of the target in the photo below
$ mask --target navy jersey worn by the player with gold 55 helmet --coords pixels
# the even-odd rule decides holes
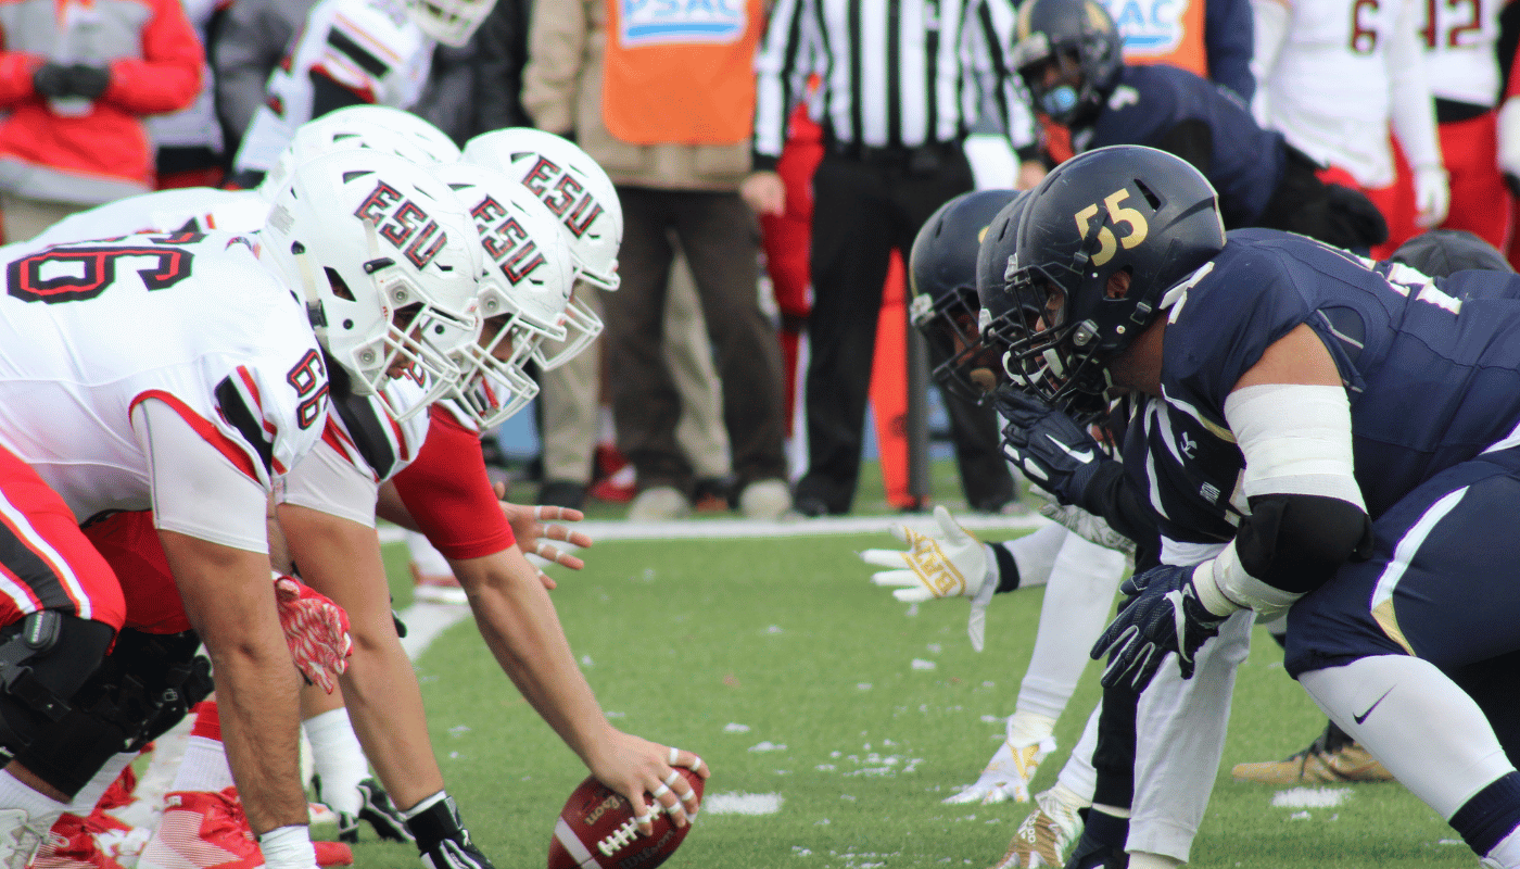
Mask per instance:
[[[1239,230],[1187,283],[1167,314],[1166,408],[1148,411],[1149,457],[1131,467],[1135,482],[1166,490],[1152,492],[1154,504],[1175,498],[1204,514],[1190,516],[1195,534],[1178,539],[1233,522],[1228,498],[1243,458],[1225,397],[1300,324],[1319,335],[1347,387],[1356,479],[1374,519],[1520,425],[1520,277],[1432,280],[1301,236]],[[1169,463],[1180,467],[1157,472]]]

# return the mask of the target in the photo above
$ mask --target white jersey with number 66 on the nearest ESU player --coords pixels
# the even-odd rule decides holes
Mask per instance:
[[[147,510],[132,408],[160,399],[266,490],[316,444],[327,371],[304,307],[228,233],[0,248],[0,444],[79,520]]]

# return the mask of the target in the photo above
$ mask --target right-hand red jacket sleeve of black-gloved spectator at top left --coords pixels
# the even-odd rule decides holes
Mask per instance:
[[[103,102],[132,114],[166,114],[195,102],[205,73],[205,49],[179,0],[147,0],[154,17],[143,27],[143,56],[111,64]]]

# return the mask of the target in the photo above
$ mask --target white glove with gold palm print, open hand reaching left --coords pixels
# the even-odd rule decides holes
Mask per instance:
[[[866,549],[860,559],[868,565],[897,568],[871,574],[879,586],[894,586],[892,597],[903,603],[921,603],[950,597],[971,598],[967,633],[971,647],[982,651],[986,635],[986,603],[997,592],[997,559],[991,548],[962,528],[944,505],[935,507],[941,534],[914,531],[894,525],[892,536],[907,543],[897,549]]]

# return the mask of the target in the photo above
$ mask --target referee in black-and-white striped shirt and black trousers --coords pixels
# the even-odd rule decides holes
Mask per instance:
[[[924,0],[838,6],[781,0],[755,61],[755,172],[745,180],[743,196],[762,215],[784,213],[775,166],[786,119],[801,75],[818,72],[821,79],[813,114],[824,125],[825,154],[813,173],[813,310],[804,384],[809,469],[795,493],[804,516],[848,513],[854,502],[891,251],[906,253],[935,208],[971,190],[961,145],[980,100],[1000,108],[1005,129],[1020,137],[1015,145],[1031,142],[1028,117],[1009,114],[1018,105],[1003,62],[1012,3],[973,0],[961,18],[939,14],[938,3]],[[891,35],[889,23],[898,26]],[[990,415],[982,429],[983,470],[962,473],[962,481],[967,499],[988,508],[997,498],[1012,498],[1012,481]],[[958,438],[958,449],[967,443]]]

